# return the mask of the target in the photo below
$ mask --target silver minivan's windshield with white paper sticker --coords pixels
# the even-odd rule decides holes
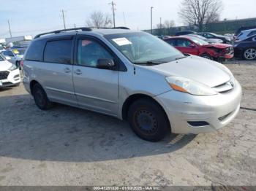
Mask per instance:
[[[151,34],[138,32],[110,34],[105,38],[132,63],[165,63],[183,58],[184,55],[170,44]]]

